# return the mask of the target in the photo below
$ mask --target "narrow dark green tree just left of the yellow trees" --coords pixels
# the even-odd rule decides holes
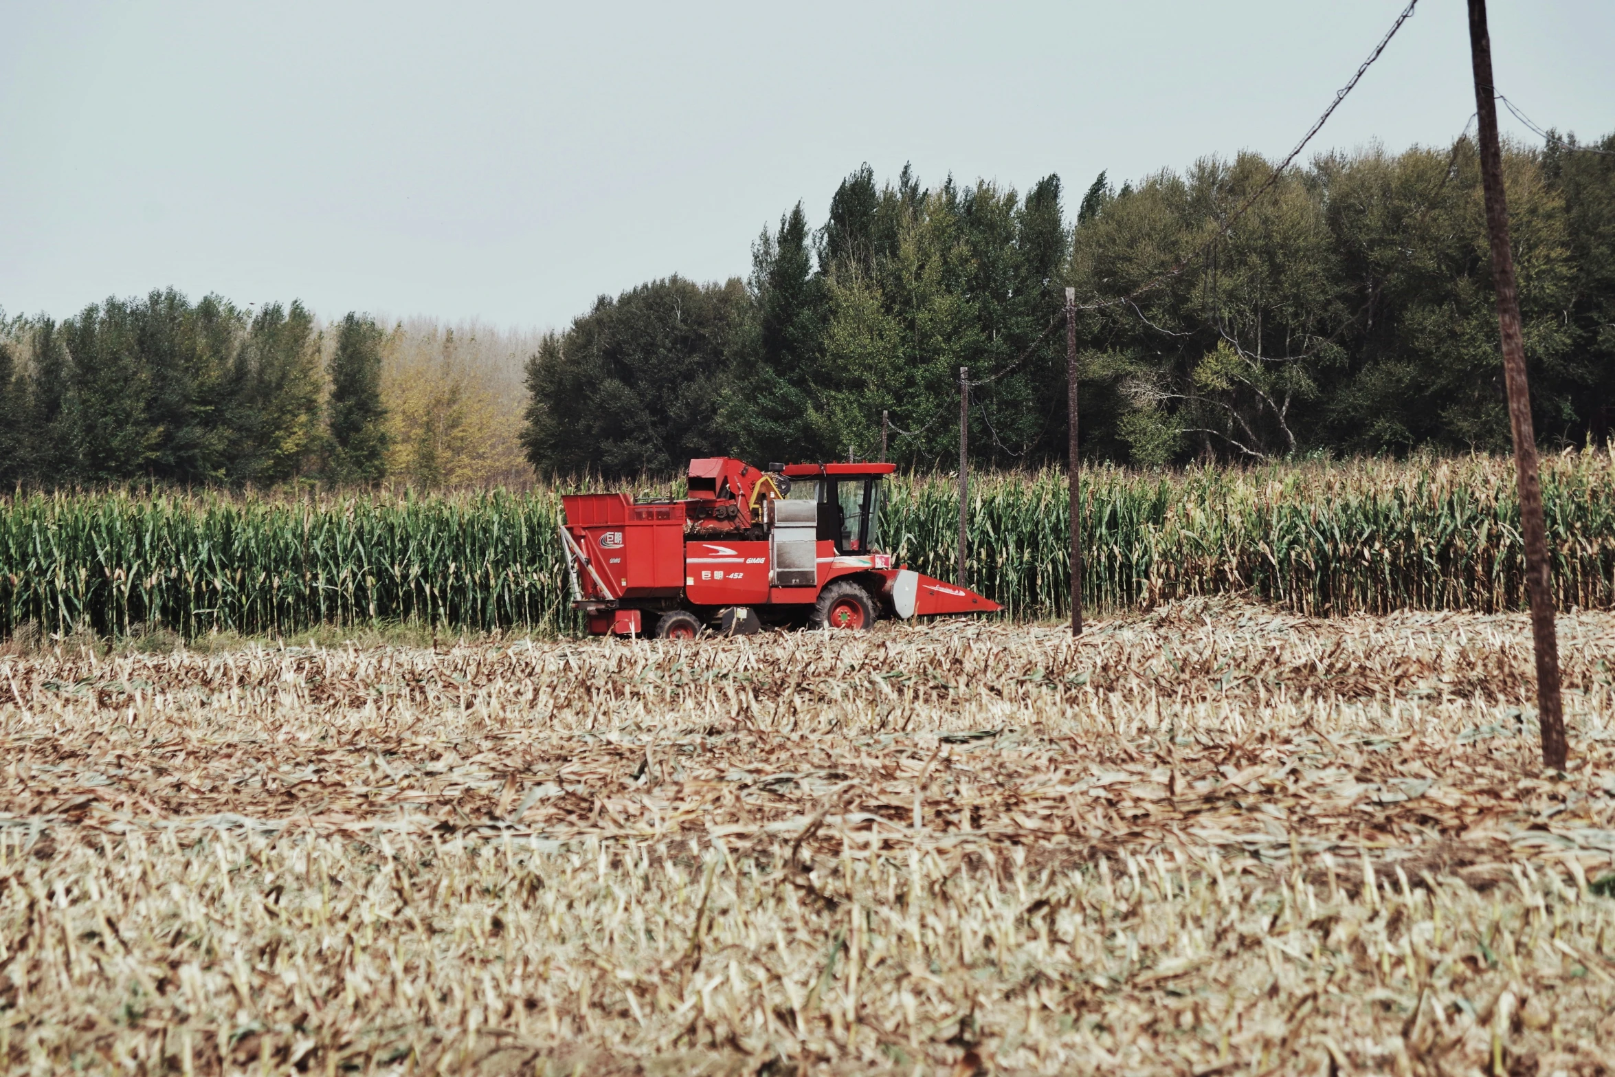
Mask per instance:
[[[336,484],[375,484],[386,476],[388,428],[381,404],[383,333],[370,315],[349,312],[331,354],[326,402],[325,478]]]

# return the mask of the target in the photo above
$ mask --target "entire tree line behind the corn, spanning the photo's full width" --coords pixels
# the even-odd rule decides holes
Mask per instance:
[[[945,467],[961,367],[971,455],[1035,467],[1066,450],[1066,287],[1095,459],[1507,450],[1473,142],[1316,157],[1229,226],[1269,171],[1100,174],[1071,215],[1058,176],[1021,194],[866,165],[817,226],[798,203],[764,229],[745,279],[649,281],[546,334],[173,289],[0,316],[0,484],[475,486],[874,459],[883,436]],[[1536,430],[1602,444],[1615,136],[1507,147],[1505,179]]]

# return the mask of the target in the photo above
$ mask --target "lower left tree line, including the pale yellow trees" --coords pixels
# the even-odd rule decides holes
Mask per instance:
[[[536,334],[166,289],[0,316],[0,488],[526,483]]]

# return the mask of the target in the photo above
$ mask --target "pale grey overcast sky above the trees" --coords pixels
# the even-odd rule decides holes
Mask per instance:
[[[1403,2],[0,0],[0,308],[173,284],[564,326],[745,274],[861,161],[1058,173],[1074,212],[1101,168],[1282,155]],[[1533,119],[1615,129],[1615,2],[1491,24]],[[1465,3],[1423,0],[1313,149],[1445,145],[1473,111]]]

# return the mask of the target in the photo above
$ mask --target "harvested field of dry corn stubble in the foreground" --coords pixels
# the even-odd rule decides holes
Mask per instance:
[[[1612,1074],[1615,615],[0,656],[16,1074]]]

